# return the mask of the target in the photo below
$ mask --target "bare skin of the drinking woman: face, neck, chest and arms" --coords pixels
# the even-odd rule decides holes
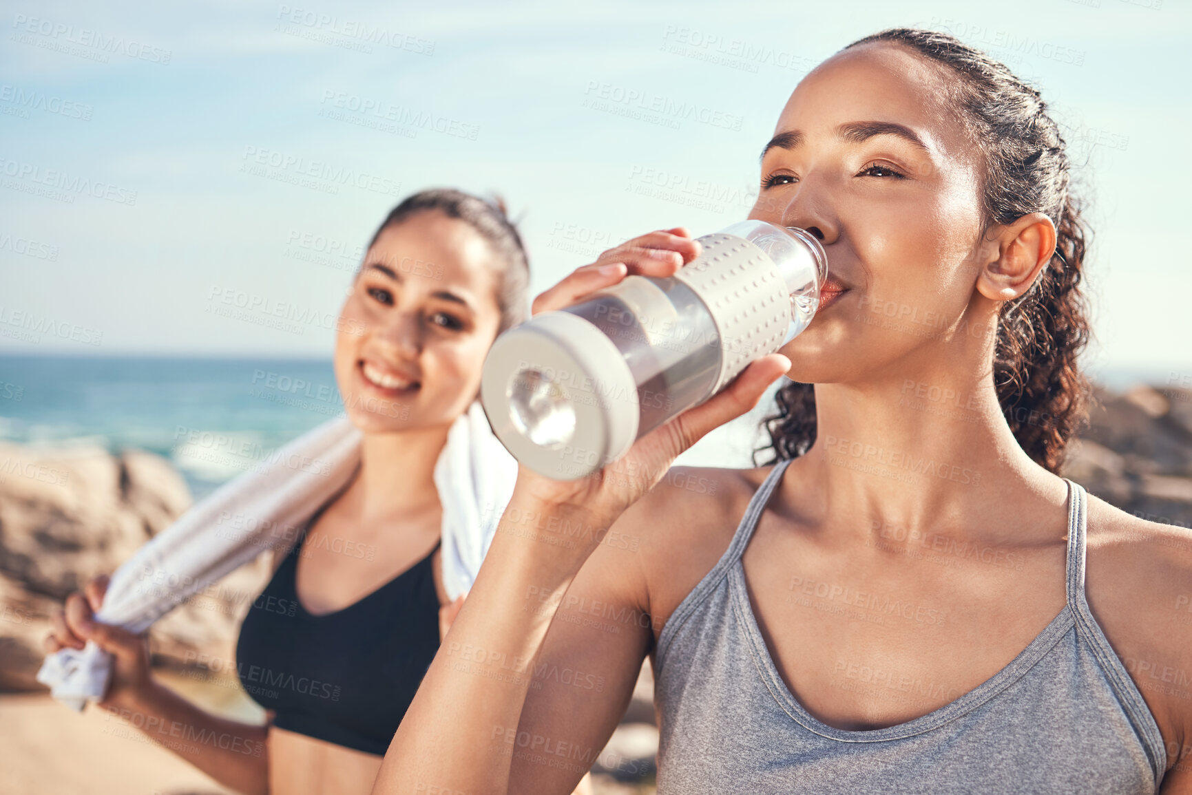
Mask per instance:
[[[676,467],[683,477],[662,477],[678,453],[756,405],[783,374],[815,384],[817,441],[788,467],[743,566],[775,665],[812,715],[861,731],[929,714],[994,676],[1060,613],[1067,486],[1018,446],[992,374],[1000,306],[1030,288],[1056,234],[1042,213],[1007,225],[986,218],[981,150],[936,100],[955,80],[911,50],[871,44],[830,58],[799,85],[763,157],[750,217],[821,237],[832,275],[824,309],[780,353],[638,440],[598,477],[560,483],[522,468],[505,513],[510,532],[498,533],[448,636],[457,648],[594,671],[604,677],[603,692],[498,684],[457,673],[440,652],[374,793],[412,791],[420,781],[462,791],[567,791],[573,772],[510,754],[499,741],[509,733],[493,726],[515,727],[517,738],[603,747],[641,660],[652,659],[668,619],[724,554],[770,470]],[[670,275],[699,248],[683,228],[644,235],[539,296],[534,311],[566,306],[626,274]],[[901,323],[883,327],[887,316],[873,308],[889,304]],[[908,409],[900,404],[907,381],[971,398],[971,417]],[[851,466],[882,459],[855,461],[840,452],[842,440],[944,462],[945,477]],[[687,487],[701,480],[716,487]],[[609,528],[634,539],[637,551],[595,540],[576,548],[536,544],[520,532],[515,511],[535,516],[535,527]],[[991,559],[1013,563],[940,563],[923,553],[923,539],[988,548],[998,555]],[[944,620],[843,616],[819,609],[831,607],[822,601],[788,600],[795,577],[881,594]],[[1149,670],[1192,671],[1192,636],[1172,609],[1190,582],[1186,533],[1089,497],[1087,598],[1119,657],[1146,660]],[[546,596],[527,610],[528,592]],[[559,603],[555,615],[550,608]],[[648,620],[596,633],[584,626],[583,609],[567,604]],[[896,689],[853,687],[842,663],[932,688],[906,698]],[[1188,791],[1190,758],[1177,763],[1192,740],[1192,692],[1153,687],[1141,670],[1130,672],[1168,746],[1162,791]]]

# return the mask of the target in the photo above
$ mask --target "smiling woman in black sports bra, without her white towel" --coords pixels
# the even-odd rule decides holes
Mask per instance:
[[[353,436],[359,458],[347,465],[355,471],[293,528],[293,546],[274,555],[273,578],[241,627],[236,671],[269,712],[266,726],[216,718],[159,684],[143,638],[93,620],[106,578],[67,600],[46,651],[91,640],[111,653],[100,704],[137,728],[235,739],[168,746],[232,789],[368,791],[462,600],[449,598],[446,583],[466,590],[458,573],[448,576],[459,564],[448,560],[440,491],[440,470],[458,461],[439,462],[445,451],[486,449],[453,449],[448,436],[483,442],[453,429],[479,411],[472,404],[480,365],[498,330],[526,316],[527,282],[526,254],[503,207],[459,191],[410,197],[373,237],[336,323],[336,381],[361,431]],[[462,533],[483,551],[482,527]]]

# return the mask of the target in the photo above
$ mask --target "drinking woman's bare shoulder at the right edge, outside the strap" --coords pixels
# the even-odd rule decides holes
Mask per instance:
[[[1182,746],[1192,731],[1192,530],[1089,495],[1085,592],[1165,738],[1178,734]]]

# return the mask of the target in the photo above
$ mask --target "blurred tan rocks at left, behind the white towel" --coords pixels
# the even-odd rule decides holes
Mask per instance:
[[[43,639],[67,595],[112,572],[190,505],[186,483],[150,453],[0,445],[0,690],[42,689]],[[155,662],[232,659],[267,566],[266,557],[234,572],[157,622]]]

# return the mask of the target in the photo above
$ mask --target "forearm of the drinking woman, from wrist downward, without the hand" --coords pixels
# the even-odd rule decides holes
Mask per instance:
[[[515,490],[485,565],[390,744],[374,793],[509,791],[505,737],[516,738],[534,663],[547,662],[540,656],[547,628],[583,563],[572,551],[557,551],[551,541],[558,539],[536,530],[536,520],[517,521],[522,516],[560,527],[601,524],[582,509]],[[532,605],[529,594],[545,597],[546,609]],[[582,775],[558,791],[570,791]]]

